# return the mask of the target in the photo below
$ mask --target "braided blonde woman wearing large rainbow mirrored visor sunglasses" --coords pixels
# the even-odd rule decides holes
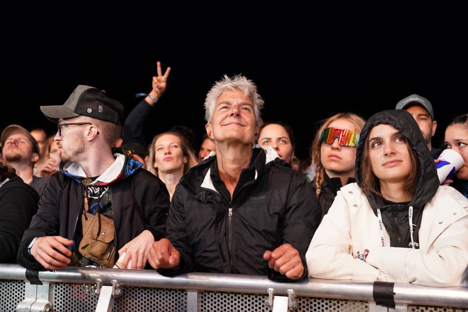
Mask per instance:
[[[322,120],[310,150],[316,175],[312,180],[322,218],[336,191],[354,182],[354,162],[359,134],[366,120],[353,113],[338,113]]]

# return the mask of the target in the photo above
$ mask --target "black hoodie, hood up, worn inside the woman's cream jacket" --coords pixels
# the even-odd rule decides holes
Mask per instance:
[[[428,145],[424,141],[414,118],[405,110],[386,110],[370,117],[359,137],[356,149],[355,178],[359,187],[362,187],[360,176],[361,157],[365,148],[366,138],[370,130],[378,124],[389,124],[400,131],[409,141],[409,145],[418,156],[420,163],[419,182],[413,198],[406,203],[392,203],[382,196],[371,193],[367,195],[372,211],[377,216],[377,209],[382,213],[382,221],[390,235],[390,247],[411,247],[409,236],[409,206],[413,207],[413,231],[415,248],[419,248],[418,232],[421,226],[423,208],[435,195],[439,187],[439,179],[434,159],[430,155]]]

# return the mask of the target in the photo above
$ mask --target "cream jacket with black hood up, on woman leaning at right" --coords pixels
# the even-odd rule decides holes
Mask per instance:
[[[371,127],[382,122],[395,126],[411,143],[418,141],[413,144],[413,149],[421,148],[417,153],[420,163],[425,164],[421,166],[420,185],[409,204],[393,206],[398,206],[399,214],[406,217],[409,215],[406,207],[421,207],[422,217],[417,227],[419,248],[390,247],[386,222],[382,222],[382,218],[376,214],[377,208],[384,211],[389,208],[388,205],[382,204],[375,194],[364,194],[359,187],[358,156],[362,152],[361,146],[356,153],[356,183],[348,184],[337,192],[306,253],[310,277],[408,282],[439,287],[465,283],[468,199],[450,186],[434,184],[437,176],[435,165],[428,160],[429,149],[421,147],[419,134],[411,137],[410,133],[414,132],[411,127],[417,127],[417,124],[409,114],[408,118],[401,112],[406,113],[404,110],[393,110],[371,117],[368,127],[365,126],[361,133],[359,145]],[[369,250],[366,261],[354,258],[364,249]]]

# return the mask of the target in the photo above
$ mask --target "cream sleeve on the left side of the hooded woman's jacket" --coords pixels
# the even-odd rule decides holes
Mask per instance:
[[[306,261],[310,277],[385,280],[381,271],[352,255],[350,211],[341,191],[315,231]]]

